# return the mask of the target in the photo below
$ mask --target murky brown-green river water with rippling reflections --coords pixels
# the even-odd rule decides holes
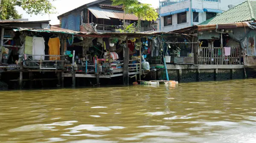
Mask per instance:
[[[256,80],[0,92],[1,143],[255,143]]]

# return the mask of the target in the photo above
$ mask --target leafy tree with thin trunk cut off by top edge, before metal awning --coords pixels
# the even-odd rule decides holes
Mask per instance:
[[[112,0],[112,1],[113,1],[112,5],[114,5],[114,6],[122,5],[123,10],[124,10],[123,23],[124,23],[124,27],[126,28],[126,25],[125,25],[125,13],[127,12],[126,9],[129,6],[138,4],[139,3],[138,0]]]

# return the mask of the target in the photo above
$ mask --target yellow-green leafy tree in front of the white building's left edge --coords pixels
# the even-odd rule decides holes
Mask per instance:
[[[141,27],[141,20],[156,21],[158,17],[156,10],[151,7],[151,4],[146,3],[129,6],[127,11],[128,13],[133,13],[138,17],[138,29]]]

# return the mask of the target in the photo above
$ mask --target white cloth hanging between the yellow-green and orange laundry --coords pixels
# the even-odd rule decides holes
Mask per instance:
[[[33,55],[42,55],[41,56],[33,56],[33,60],[44,60],[44,49],[45,49],[45,45],[44,45],[44,38],[43,37],[33,37]]]

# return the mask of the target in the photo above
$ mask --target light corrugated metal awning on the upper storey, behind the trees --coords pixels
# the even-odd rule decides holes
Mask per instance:
[[[108,20],[110,20],[110,18],[116,18],[122,20],[124,17],[123,11],[105,9],[98,6],[91,6],[88,9],[96,18],[103,18]],[[136,17],[134,14],[125,14],[125,20],[138,20],[138,17]]]

